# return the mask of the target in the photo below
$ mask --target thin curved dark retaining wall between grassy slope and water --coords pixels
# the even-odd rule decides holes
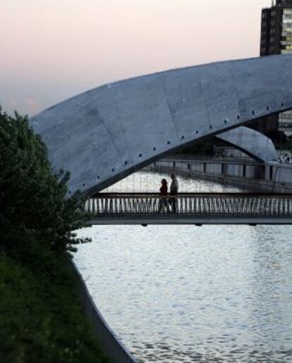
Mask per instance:
[[[126,347],[118,340],[114,331],[111,330],[102,317],[102,314],[100,314],[95,306],[95,302],[92,300],[92,297],[87,290],[83,277],[80,275],[80,272],[73,261],[72,266],[85,314],[92,324],[97,338],[99,338],[105,352],[107,352],[107,355],[112,359],[113,363],[135,363],[136,361],[133,356],[130,355],[130,352],[128,352]]]

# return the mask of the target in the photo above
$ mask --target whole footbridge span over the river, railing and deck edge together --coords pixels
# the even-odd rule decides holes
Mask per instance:
[[[292,224],[292,195],[98,193],[87,199],[85,211],[92,225]]]

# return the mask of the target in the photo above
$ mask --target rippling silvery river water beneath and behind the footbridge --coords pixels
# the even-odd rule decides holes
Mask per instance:
[[[111,191],[159,188],[138,173]],[[181,191],[231,191],[179,178]],[[135,189],[135,190],[133,190]],[[153,191],[154,191],[153,190]],[[291,226],[95,226],[75,262],[138,362],[292,362]]]

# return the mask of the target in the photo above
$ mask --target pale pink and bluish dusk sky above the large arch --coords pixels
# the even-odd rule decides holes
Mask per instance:
[[[271,0],[0,0],[0,104],[29,116],[104,83],[259,56]]]

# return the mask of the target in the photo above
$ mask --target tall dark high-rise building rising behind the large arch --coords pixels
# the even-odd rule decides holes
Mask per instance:
[[[262,9],[260,56],[292,54],[292,0],[273,0],[271,8]],[[265,133],[281,130],[292,135],[292,111],[269,116],[260,123]]]

